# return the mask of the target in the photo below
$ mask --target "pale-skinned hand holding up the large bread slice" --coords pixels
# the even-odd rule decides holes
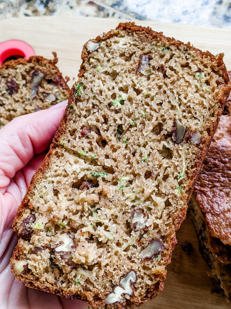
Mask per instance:
[[[86,303],[27,288],[10,272],[17,243],[12,222],[31,177],[63,116],[65,105],[20,116],[0,130],[0,304],[2,309],[83,309]]]

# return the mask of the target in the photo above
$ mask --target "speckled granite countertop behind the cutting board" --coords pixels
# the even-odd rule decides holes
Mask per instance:
[[[0,19],[85,16],[231,29],[231,0],[0,0]]]

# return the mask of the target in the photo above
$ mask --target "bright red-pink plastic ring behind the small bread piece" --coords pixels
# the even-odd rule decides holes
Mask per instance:
[[[10,40],[0,44],[0,66],[7,58],[15,55],[28,59],[35,53],[33,48],[23,41]]]

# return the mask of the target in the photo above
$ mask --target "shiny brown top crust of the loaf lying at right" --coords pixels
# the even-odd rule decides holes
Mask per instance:
[[[231,244],[231,116],[221,116],[194,188],[211,236]]]

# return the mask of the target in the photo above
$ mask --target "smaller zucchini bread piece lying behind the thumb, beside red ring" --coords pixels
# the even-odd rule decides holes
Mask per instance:
[[[0,128],[15,117],[64,101],[70,89],[53,60],[40,56],[6,62],[0,67]]]

